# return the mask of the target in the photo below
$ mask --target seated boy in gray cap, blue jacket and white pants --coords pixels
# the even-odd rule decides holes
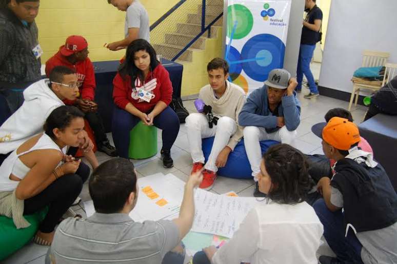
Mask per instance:
[[[284,69],[270,71],[265,85],[253,91],[239,115],[244,128],[244,144],[255,180],[255,197],[259,191],[256,174],[260,172],[261,146],[259,141],[272,139],[291,144],[300,124],[301,104],[294,91],[296,78]]]

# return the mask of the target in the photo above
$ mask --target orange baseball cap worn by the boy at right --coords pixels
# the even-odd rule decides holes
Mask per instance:
[[[326,143],[339,150],[349,150],[361,140],[359,128],[342,117],[332,117],[324,127],[322,136]]]

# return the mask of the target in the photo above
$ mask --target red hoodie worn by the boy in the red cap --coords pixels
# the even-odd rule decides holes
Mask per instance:
[[[46,62],[46,75],[49,77],[50,72],[55,66],[66,66],[71,69],[74,69],[77,73],[78,78],[78,89],[80,90],[82,99],[94,100],[95,96],[95,73],[94,66],[91,63],[91,60],[87,57],[83,62],[77,62],[75,65],[68,62],[66,57],[61,54],[61,52],[57,52],[54,56]],[[64,103],[66,105],[73,105],[73,101],[65,100]]]

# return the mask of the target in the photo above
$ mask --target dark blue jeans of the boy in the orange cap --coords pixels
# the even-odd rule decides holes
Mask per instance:
[[[324,226],[325,240],[338,259],[344,263],[362,264],[361,249],[363,246],[351,229],[345,237],[346,230],[342,210],[331,212],[324,199],[314,202],[313,208]]]

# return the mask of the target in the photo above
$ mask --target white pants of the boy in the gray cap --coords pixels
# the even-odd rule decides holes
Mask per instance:
[[[281,141],[281,143],[290,144],[296,137],[296,131],[288,131],[284,126],[273,133],[267,133],[262,127],[245,127],[244,128],[244,145],[247,152],[249,164],[251,165],[252,176],[256,180],[256,174],[260,172],[262,159],[262,150],[259,141],[270,139]]]

